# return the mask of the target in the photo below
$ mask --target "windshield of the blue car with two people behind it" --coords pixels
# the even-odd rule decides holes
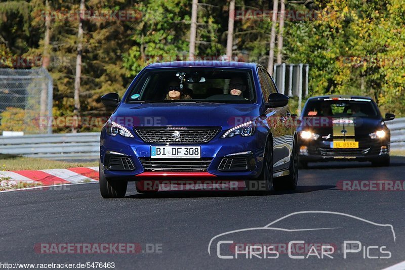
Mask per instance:
[[[253,103],[254,98],[250,70],[186,67],[146,70],[126,102]]]

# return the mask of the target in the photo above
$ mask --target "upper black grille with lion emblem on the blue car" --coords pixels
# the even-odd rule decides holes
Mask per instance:
[[[134,128],[139,138],[146,143],[157,144],[204,144],[219,132],[218,127],[148,127]]]

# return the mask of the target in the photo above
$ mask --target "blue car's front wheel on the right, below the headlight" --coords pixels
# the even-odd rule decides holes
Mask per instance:
[[[246,189],[249,192],[260,192],[267,194],[273,189],[273,148],[267,142],[263,158],[263,168],[258,179],[246,181]]]

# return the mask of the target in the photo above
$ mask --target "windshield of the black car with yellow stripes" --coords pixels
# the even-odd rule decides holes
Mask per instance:
[[[305,117],[377,117],[377,111],[368,99],[325,99],[308,101]]]

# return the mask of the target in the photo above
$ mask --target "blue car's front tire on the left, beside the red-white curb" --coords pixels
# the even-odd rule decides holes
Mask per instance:
[[[101,196],[106,199],[124,198],[127,193],[128,181],[107,179],[101,163],[99,169]]]

